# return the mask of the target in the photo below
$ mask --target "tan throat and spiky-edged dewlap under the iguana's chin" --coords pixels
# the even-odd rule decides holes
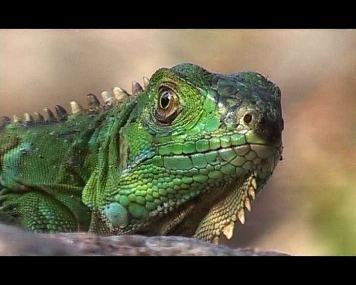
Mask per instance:
[[[252,200],[267,183],[281,155],[281,147],[262,144],[246,146],[258,149],[259,153],[264,151],[265,155],[260,163],[237,176],[231,176],[230,179],[217,181],[214,186],[206,187],[190,201],[161,219],[156,219],[155,229],[159,231],[155,234],[193,236],[214,242],[218,242],[221,234],[228,239],[232,238],[235,222],[239,220],[241,224],[245,223],[245,209],[251,211]]]

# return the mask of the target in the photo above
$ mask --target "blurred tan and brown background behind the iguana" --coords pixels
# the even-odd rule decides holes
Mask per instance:
[[[283,161],[223,243],[356,255],[356,30],[0,30],[0,115],[86,105],[181,62],[282,90]]]

